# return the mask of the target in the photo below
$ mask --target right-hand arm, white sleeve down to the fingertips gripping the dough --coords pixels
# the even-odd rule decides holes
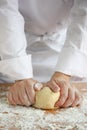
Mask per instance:
[[[74,0],[73,20],[68,28],[65,45],[60,53],[55,74],[47,85],[60,90],[58,107],[77,106],[82,97],[70,83],[71,76],[87,77],[87,1]]]

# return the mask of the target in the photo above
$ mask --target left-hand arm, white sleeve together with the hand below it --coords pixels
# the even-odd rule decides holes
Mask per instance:
[[[16,81],[8,92],[8,101],[14,105],[30,106],[35,102],[36,81],[31,79],[31,55],[26,54],[26,46],[18,0],[0,0],[0,81]]]

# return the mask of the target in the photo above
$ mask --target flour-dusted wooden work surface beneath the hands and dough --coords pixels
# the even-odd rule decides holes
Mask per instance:
[[[83,95],[80,107],[45,111],[11,106],[0,88],[0,130],[87,130],[87,84],[78,84]]]

